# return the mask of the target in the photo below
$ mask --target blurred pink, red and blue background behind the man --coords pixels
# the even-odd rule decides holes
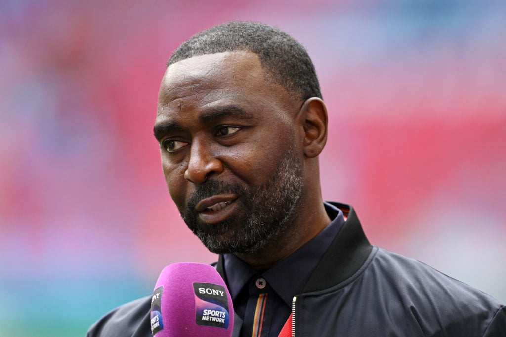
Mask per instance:
[[[83,336],[174,262],[210,263],[152,136],[165,62],[229,20],[307,47],[325,199],[371,242],[506,302],[503,1],[0,1],[0,336]]]

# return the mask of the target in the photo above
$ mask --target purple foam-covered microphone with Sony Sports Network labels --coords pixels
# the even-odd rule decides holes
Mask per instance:
[[[234,308],[218,271],[202,263],[175,263],[160,273],[151,298],[154,337],[231,337]]]

